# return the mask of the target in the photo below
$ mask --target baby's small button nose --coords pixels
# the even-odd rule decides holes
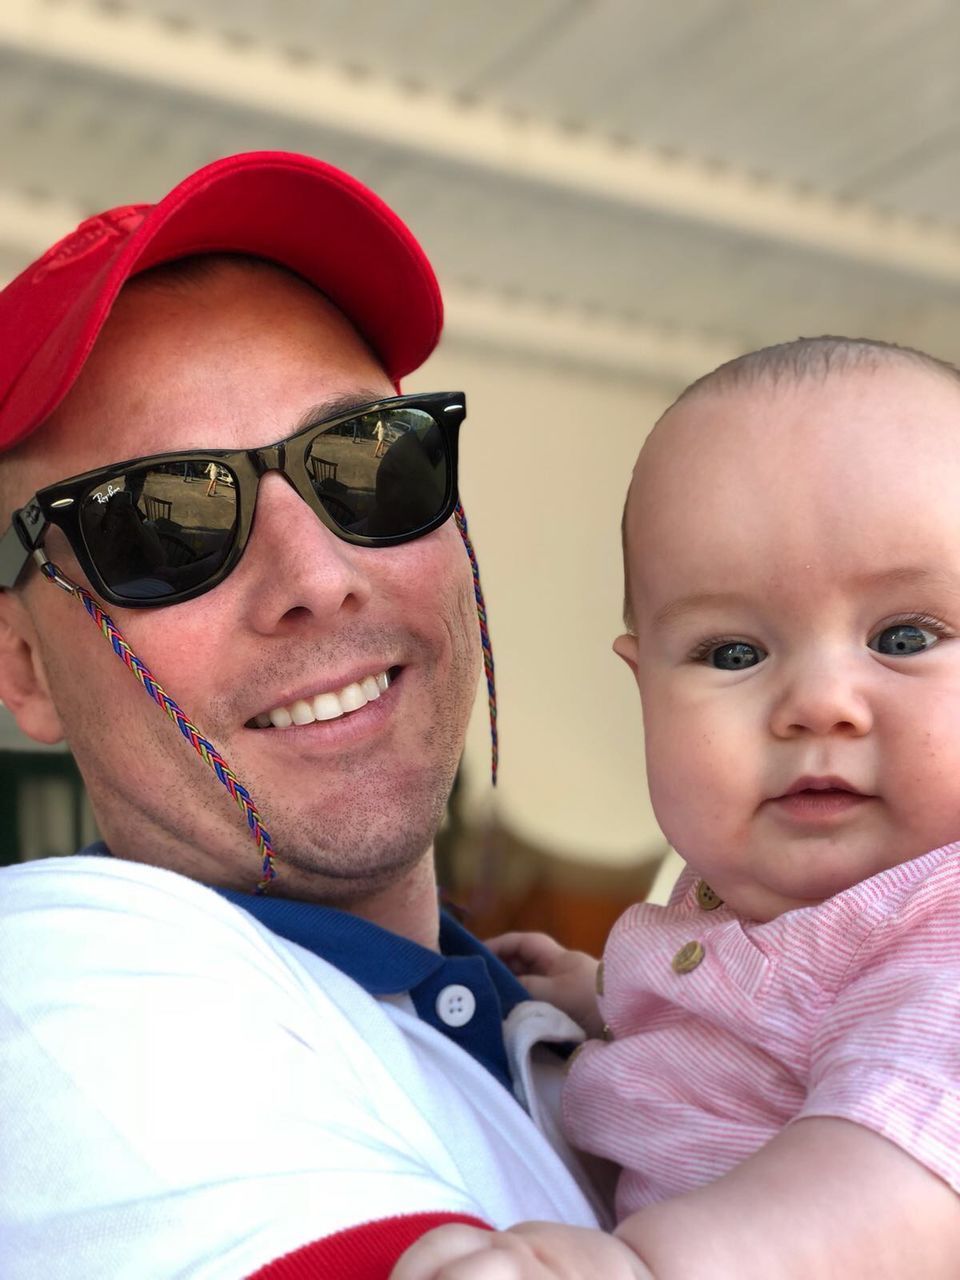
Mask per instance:
[[[796,662],[771,713],[777,737],[837,733],[860,737],[873,727],[873,712],[855,664],[840,658]]]

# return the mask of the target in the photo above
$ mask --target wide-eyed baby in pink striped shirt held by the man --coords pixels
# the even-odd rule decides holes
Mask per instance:
[[[955,1280],[960,372],[833,338],[722,366],[644,444],[623,548],[687,870],[599,968],[495,943],[598,1037],[564,1120],[620,1225],[443,1228],[394,1280]]]

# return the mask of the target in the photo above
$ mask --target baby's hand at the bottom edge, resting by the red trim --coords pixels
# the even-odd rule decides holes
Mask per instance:
[[[613,1235],[557,1222],[521,1222],[509,1231],[454,1224],[428,1231],[390,1280],[653,1280]]]

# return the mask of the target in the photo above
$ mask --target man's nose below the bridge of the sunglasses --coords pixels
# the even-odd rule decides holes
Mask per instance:
[[[370,563],[371,553],[330,532],[280,472],[261,479],[253,527],[234,571],[256,631],[301,630],[362,607],[371,594]]]

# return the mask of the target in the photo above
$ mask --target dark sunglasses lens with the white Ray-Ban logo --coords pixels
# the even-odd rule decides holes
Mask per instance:
[[[129,600],[161,600],[212,577],[237,530],[237,479],[214,458],[129,467],[81,502],[90,558]]]

